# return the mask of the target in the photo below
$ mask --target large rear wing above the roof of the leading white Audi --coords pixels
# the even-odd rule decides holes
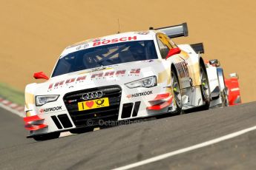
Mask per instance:
[[[169,38],[188,36],[188,25],[186,22],[180,25],[174,25],[170,27],[161,27],[161,28],[150,27],[149,30],[159,30],[165,33]]]

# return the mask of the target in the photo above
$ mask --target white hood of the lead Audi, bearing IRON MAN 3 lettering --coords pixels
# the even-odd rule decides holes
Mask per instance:
[[[97,67],[59,75],[37,84],[35,95],[60,94],[99,86],[122,86],[131,81],[158,75],[167,67],[161,60],[134,61],[124,64]]]

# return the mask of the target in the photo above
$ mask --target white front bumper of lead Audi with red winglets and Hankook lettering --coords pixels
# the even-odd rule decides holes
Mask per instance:
[[[102,91],[102,98],[109,98],[110,106],[98,109],[78,111],[77,103],[82,101],[82,94],[86,92]],[[45,106],[36,107],[38,120],[24,119],[30,136],[42,135],[50,132],[64,132],[86,126],[101,126],[105,121],[128,120],[144,118],[161,113],[174,112],[171,87],[154,86],[152,88],[128,89],[126,86],[111,85],[97,88],[82,89],[68,92],[58,101],[47,103],[49,107],[61,106],[56,112],[42,112]],[[41,124],[40,124],[41,123]],[[32,127],[37,126],[36,129]]]

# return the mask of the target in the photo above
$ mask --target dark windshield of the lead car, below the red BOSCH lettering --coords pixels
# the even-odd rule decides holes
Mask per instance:
[[[129,41],[71,52],[60,58],[52,77],[83,69],[157,59],[153,40]]]

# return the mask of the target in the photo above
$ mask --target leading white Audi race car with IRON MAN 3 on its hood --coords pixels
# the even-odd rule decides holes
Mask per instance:
[[[219,80],[210,89],[209,67],[197,45],[177,45],[186,24],[93,38],[67,47],[50,78],[25,88],[28,137],[89,132],[100,121],[129,120],[223,104]],[[215,70],[216,71],[216,70]],[[216,72],[215,72],[216,73]],[[214,98],[211,100],[211,92]],[[215,94],[219,92],[219,95]]]

